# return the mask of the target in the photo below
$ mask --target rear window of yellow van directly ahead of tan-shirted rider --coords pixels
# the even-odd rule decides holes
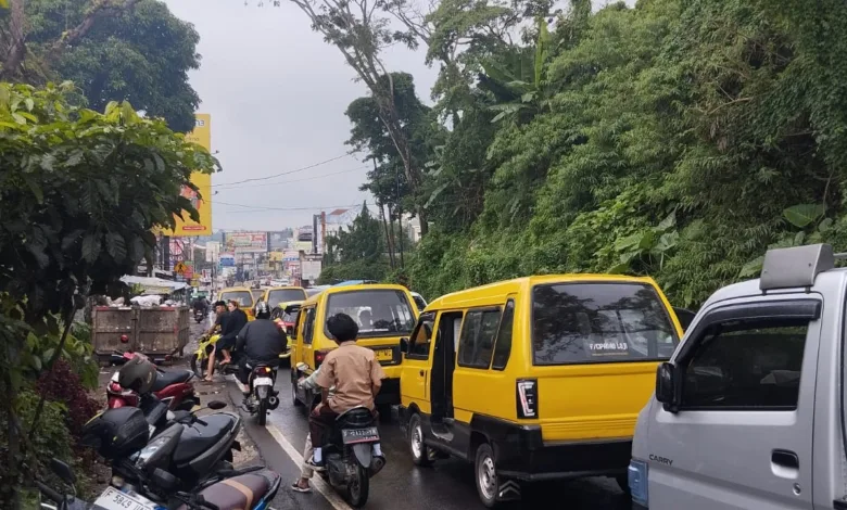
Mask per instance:
[[[415,327],[415,315],[402,291],[351,291],[332,294],[327,303],[327,318],[336,314],[346,314],[358,322],[359,337],[397,336],[410,333]]]

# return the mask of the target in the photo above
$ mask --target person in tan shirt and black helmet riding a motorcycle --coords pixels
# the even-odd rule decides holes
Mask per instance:
[[[308,466],[315,471],[324,470],[323,447],[328,430],[342,412],[354,407],[375,410],[374,400],[382,387],[385,372],[377,361],[374,350],[356,345],[358,324],[346,314],[337,314],[327,319],[327,330],[338,344],[327,354],[320,365],[316,383],[321,388],[321,401],[308,418],[308,430],[315,452]],[[329,395],[329,388],[336,392]],[[382,452],[375,446],[377,456]]]

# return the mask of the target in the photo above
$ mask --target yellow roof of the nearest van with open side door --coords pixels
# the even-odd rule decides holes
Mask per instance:
[[[427,309],[457,308],[463,306],[480,306],[485,302],[496,297],[502,301],[508,294],[514,294],[521,289],[545,283],[560,282],[621,282],[621,283],[648,283],[656,282],[649,277],[628,277],[624,275],[592,275],[592,273],[568,273],[568,275],[540,275],[532,277],[516,278],[514,280],[498,281],[488,285],[475,286],[464,291],[446,294],[433,299]]]

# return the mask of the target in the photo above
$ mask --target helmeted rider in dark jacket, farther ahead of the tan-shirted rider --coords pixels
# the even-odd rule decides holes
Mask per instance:
[[[261,301],[256,304],[256,320],[248,322],[236,337],[236,352],[240,354],[238,380],[241,392],[250,396],[250,372],[258,364],[279,366],[279,355],[286,352],[288,336],[270,320],[270,308]]]

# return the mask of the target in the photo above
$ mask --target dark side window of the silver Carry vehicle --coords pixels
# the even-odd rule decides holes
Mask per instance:
[[[808,320],[710,327],[686,364],[681,408],[794,410]]]

